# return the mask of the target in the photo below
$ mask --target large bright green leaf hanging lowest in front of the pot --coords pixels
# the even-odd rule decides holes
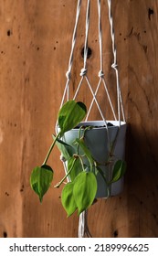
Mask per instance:
[[[97,193],[97,179],[91,172],[81,172],[74,180],[73,195],[79,214],[90,207]]]

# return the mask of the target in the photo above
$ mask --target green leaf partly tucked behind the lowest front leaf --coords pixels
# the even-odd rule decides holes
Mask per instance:
[[[73,196],[73,183],[69,182],[63,189],[61,193],[61,202],[65,210],[67,211],[68,217],[74,213],[77,209],[75,199]]]

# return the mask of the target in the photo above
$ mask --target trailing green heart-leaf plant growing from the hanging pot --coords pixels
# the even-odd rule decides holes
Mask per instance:
[[[61,202],[67,211],[68,217],[77,209],[80,214],[93,204],[98,188],[98,173],[102,176],[108,189],[111,183],[119,180],[125,172],[125,162],[118,160],[113,166],[111,180],[107,181],[105,174],[99,167],[99,163],[91,155],[90,149],[84,140],[85,134],[90,129],[93,129],[93,127],[80,126],[78,136],[73,142],[76,145],[75,152],[72,145],[66,144],[63,141],[64,134],[77,127],[84,120],[86,114],[87,108],[81,101],[67,101],[62,106],[58,112],[58,132],[56,135],[53,135],[53,142],[47,152],[43,165],[35,167],[30,176],[30,185],[37,193],[40,202],[42,202],[47,189],[51,186],[54,176],[54,170],[51,166],[47,165],[47,160],[54,146],[57,145],[62,156],[67,161],[68,171],[54,187],[63,186]],[[112,156],[111,147],[111,152],[105,165],[111,165]]]

